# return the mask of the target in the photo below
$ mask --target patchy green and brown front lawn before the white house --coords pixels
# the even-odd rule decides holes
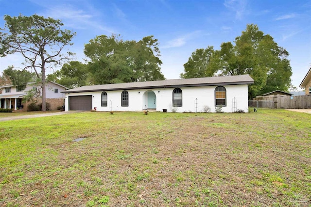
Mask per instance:
[[[1,122],[0,206],[311,207],[311,114],[85,112]]]

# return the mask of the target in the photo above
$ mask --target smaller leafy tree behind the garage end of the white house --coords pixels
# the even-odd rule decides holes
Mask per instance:
[[[69,89],[88,85],[87,65],[78,61],[70,61],[64,64],[61,70],[48,75],[48,80],[57,82]]]

